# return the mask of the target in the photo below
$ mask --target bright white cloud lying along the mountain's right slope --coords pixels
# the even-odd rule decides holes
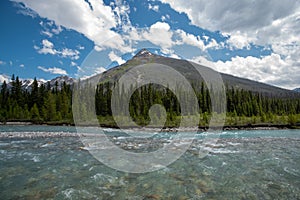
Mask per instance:
[[[222,73],[278,87],[294,89],[300,86],[299,66],[296,66],[292,60],[282,59],[275,53],[262,58],[237,56],[226,62],[212,62],[203,57],[193,58],[191,61],[209,66]]]

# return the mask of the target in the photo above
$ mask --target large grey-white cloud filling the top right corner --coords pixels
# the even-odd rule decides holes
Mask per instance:
[[[188,15],[194,25],[229,35],[235,48],[250,43],[276,46],[299,44],[300,2],[294,0],[161,0]]]

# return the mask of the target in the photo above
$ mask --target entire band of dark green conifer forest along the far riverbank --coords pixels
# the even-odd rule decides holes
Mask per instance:
[[[81,96],[79,105],[75,103],[73,109],[78,110],[79,118],[89,121],[89,111],[96,110],[99,122],[104,126],[116,126],[112,117],[112,106],[118,109],[118,116],[125,115],[125,110],[129,109],[130,116],[139,125],[147,125],[150,122],[149,109],[154,104],[162,105],[166,113],[162,110],[156,112],[155,119],[162,121],[166,117],[166,126],[177,126],[180,123],[180,115],[183,110],[188,110],[184,115],[193,116],[200,113],[200,126],[209,123],[212,114],[212,102],[208,88],[200,83],[193,86],[195,91],[199,112],[196,107],[181,108],[181,106],[193,106],[189,102],[189,95],[180,86],[176,87],[180,101],[175,94],[164,87],[156,84],[148,84],[134,90],[131,86],[125,90],[125,86],[118,86],[110,82],[101,83],[96,86],[96,92],[86,92],[95,90],[90,84],[83,84],[75,97]],[[112,91],[116,89],[117,98],[111,103]],[[124,99],[132,92],[129,105],[125,105]],[[300,122],[300,98],[279,98],[275,96],[264,96],[250,91],[235,88],[226,88],[226,125],[244,125],[257,123],[291,124]],[[77,91],[78,92],[78,91]],[[95,97],[90,97],[94,94]],[[215,95],[218,97],[219,95]],[[87,98],[85,100],[85,98]],[[88,98],[95,98],[95,105],[89,105]],[[76,98],[75,98],[76,99]],[[221,98],[220,98],[221,99]],[[215,99],[218,108],[225,102]],[[73,99],[74,101],[74,99]],[[113,105],[112,105],[113,104]],[[220,109],[221,110],[221,109]],[[166,116],[164,116],[166,114]],[[218,113],[222,114],[222,113]],[[72,114],[72,88],[63,83],[60,87],[58,83],[51,88],[50,83],[39,85],[34,79],[30,90],[22,89],[22,82],[18,77],[12,76],[11,83],[4,82],[0,91],[0,121],[30,121],[34,123],[67,123],[73,124]],[[127,123],[127,122],[126,122]]]

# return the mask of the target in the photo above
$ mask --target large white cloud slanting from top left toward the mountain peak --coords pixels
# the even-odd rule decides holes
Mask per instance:
[[[126,7],[112,10],[102,0],[15,0],[36,11],[41,17],[55,21],[58,26],[84,34],[100,48],[111,47],[122,52],[129,51],[122,37],[112,31],[123,22],[116,15],[126,12]],[[91,9],[91,7],[93,9]],[[124,10],[125,9],[125,10]],[[122,13],[123,12],[123,13]]]

